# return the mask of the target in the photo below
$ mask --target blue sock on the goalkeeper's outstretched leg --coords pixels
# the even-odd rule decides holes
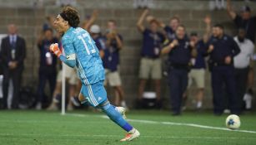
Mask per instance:
[[[114,109],[115,106],[112,104],[106,104],[101,109],[105,114],[108,115],[108,117],[114,122],[117,123],[121,128],[123,128],[125,131],[129,132],[133,129],[133,127],[123,119],[122,115],[118,113],[116,109]]]

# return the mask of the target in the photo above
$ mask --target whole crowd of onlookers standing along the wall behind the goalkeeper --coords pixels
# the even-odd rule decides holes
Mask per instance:
[[[156,94],[155,104],[158,108],[162,107],[161,80],[162,67],[165,64],[173,115],[182,113],[189,95],[188,89],[193,81],[197,87],[195,108],[202,109],[207,67],[211,72],[213,113],[223,114],[224,109],[230,109],[232,114],[242,113],[244,94],[253,93],[253,67],[250,64],[253,58],[253,43],[255,44],[256,17],[251,16],[248,6],[243,6],[241,13],[234,12],[230,0],[227,1],[227,12],[238,28],[236,36],[226,34],[221,24],[212,25],[209,16],[202,20],[206,26],[203,36],[198,36],[197,31],[188,34],[186,23],[182,23],[178,16],[171,17],[168,24],[150,15],[150,10],[147,8],[138,16],[136,26],[143,36],[138,72],[136,104],[138,108],[143,106],[143,93],[149,80],[153,80]],[[102,30],[94,23],[97,17],[98,11],[94,11],[92,16],[83,22],[82,27],[90,32],[98,47],[106,75],[104,84],[114,90],[113,104],[127,108],[119,74],[119,51],[123,49],[123,36],[118,32],[115,20],[108,20],[107,30]],[[60,63],[57,57],[48,50],[53,43],[61,46],[60,36],[53,31],[53,20],[54,17],[48,17],[48,22],[43,25],[42,34],[38,37],[40,63],[35,108],[58,109],[64,69],[68,83],[68,110],[73,110],[73,106],[80,105],[77,96],[81,82],[78,81],[75,70],[71,70],[66,65],[57,71]],[[12,78],[14,93],[11,108],[18,109],[18,90],[21,84],[23,60],[26,56],[26,43],[22,37],[18,36],[17,27],[14,24],[8,26],[8,32],[9,35],[3,38],[0,53],[3,64],[2,108],[8,107],[8,85]],[[164,60],[166,63],[162,62],[164,56],[167,57]],[[43,105],[47,81],[50,85],[52,103]],[[224,95],[228,97],[228,104],[225,104]]]

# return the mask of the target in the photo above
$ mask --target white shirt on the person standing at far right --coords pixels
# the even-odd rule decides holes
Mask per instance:
[[[238,36],[235,36],[233,40],[237,42],[241,50],[240,53],[237,56],[234,56],[233,58],[234,68],[244,69],[248,67],[250,59],[253,57],[253,42],[246,38],[244,39],[243,42],[240,42],[238,41]]]

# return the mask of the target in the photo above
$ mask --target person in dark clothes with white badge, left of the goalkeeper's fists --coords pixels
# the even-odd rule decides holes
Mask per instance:
[[[38,99],[36,109],[42,109],[44,89],[47,81],[50,85],[50,96],[53,96],[53,91],[56,85],[56,65],[57,57],[49,51],[49,46],[53,43],[58,43],[58,39],[53,36],[53,30],[47,28],[43,31],[44,35],[38,39],[38,49],[40,51],[40,65],[39,65],[39,85],[38,85]]]

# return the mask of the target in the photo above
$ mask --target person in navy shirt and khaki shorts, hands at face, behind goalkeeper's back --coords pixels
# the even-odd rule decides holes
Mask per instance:
[[[104,50],[103,66],[105,68],[106,80],[114,88],[115,105],[127,107],[124,99],[122,82],[118,73],[119,51],[123,49],[123,37],[118,34],[117,25],[114,20],[108,21],[108,32],[106,34],[106,49]]]

